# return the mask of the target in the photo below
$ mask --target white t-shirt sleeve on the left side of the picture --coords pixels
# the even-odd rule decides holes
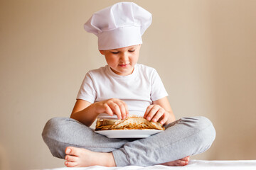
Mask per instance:
[[[87,72],[87,74],[85,75],[85,79],[83,79],[80,86],[80,90],[78,91],[77,99],[82,99],[85,101],[89,101],[90,103],[94,103],[95,98],[96,91],[94,88],[92,75],[90,74],[90,72]]]

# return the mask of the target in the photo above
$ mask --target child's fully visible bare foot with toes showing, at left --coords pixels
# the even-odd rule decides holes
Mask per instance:
[[[85,167],[85,166],[116,166],[112,152],[92,152],[78,147],[67,147],[65,149],[65,166]]]

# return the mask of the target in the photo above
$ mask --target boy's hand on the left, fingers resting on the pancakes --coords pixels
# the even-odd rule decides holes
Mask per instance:
[[[129,115],[127,104],[118,98],[110,98],[95,104],[96,113],[117,115],[118,119],[125,119]]]

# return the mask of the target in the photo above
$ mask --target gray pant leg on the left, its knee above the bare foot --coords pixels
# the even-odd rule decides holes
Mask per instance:
[[[68,146],[82,147],[94,152],[112,152],[128,140],[110,139],[72,118],[52,118],[46,123],[43,140],[54,157],[65,157]]]

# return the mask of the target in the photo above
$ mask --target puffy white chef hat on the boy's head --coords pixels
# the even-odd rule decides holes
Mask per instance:
[[[142,35],[151,24],[149,11],[133,2],[119,2],[92,15],[85,30],[98,37],[99,50],[142,44]]]

